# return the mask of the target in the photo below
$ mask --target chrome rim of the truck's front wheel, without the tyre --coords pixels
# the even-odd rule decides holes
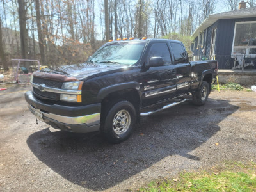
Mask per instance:
[[[120,110],[113,119],[113,130],[116,134],[124,134],[130,127],[131,115],[126,110]]]

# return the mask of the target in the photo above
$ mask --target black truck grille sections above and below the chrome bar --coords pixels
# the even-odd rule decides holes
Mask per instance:
[[[38,77],[33,78],[33,83],[36,84],[45,84],[45,86],[49,86],[52,88],[61,88],[62,82],[59,81],[52,81],[49,79],[41,79]],[[37,88],[33,88],[33,91],[37,97],[40,97],[42,99],[51,99],[51,100],[59,100],[60,99],[60,93],[53,93],[53,92],[41,92]]]

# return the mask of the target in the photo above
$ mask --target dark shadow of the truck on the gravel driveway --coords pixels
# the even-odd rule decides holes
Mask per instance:
[[[238,106],[209,99],[202,107],[187,102],[143,117],[131,138],[110,145],[97,133],[74,134],[49,129],[27,140],[33,154],[65,179],[93,190],[104,190],[143,172],[167,156],[188,154],[220,131],[218,123]]]

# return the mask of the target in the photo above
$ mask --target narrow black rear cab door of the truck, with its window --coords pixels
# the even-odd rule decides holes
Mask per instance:
[[[191,84],[191,65],[188,61],[188,54],[181,42],[170,42],[169,44],[176,70],[177,95],[184,95],[189,92]]]

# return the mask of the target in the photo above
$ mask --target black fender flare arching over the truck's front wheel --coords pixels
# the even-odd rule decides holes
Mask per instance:
[[[132,81],[132,82],[127,82],[127,83],[120,83],[120,84],[113,84],[111,86],[107,86],[102,88],[98,95],[97,95],[97,99],[98,100],[102,100],[104,99],[107,95],[109,95],[109,93],[113,93],[113,92],[118,92],[121,90],[128,90],[128,89],[135,89],[138,92],[139,95],[139,99],[141,102],[141,90],[140,90],[140,84],[136,81]]]

